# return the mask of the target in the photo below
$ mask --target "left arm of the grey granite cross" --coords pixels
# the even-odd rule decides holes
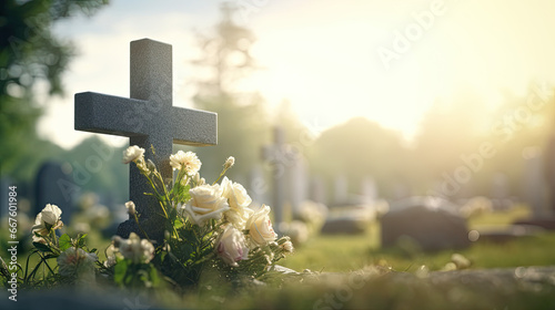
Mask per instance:
[[[143,114],[148,102],[93,92],[75,94],[77,131],[121,136],[147,135]]]

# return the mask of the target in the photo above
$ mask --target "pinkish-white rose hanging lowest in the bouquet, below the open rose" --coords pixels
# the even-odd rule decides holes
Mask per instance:
[[[230,266],[238,267],[238,261],[249,258],[244,235],[233,225],[225,227],[215,244],[218,255]]]

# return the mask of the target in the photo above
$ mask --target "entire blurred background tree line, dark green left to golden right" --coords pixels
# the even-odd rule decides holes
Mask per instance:
[[[71,44],[59,42],[50,33],[51,23],[79,11],[92,13],[105,3],[53,1],[52,7],[38,4],[51,2],[19,4],[10,0],[2,4],[1,174],[22,182],[31,182],[38,166],[47,158],[74,166],[75,161],[79,164],[91,154],[93,146],[105,146],[101,140],[93,137],[65,152],[37,137],[34,124],[41,111],[33,99],[33,85],[37,80],[44,80],[50,85],[51,94],[60,94],[60,76],[72,55]],[[59,8],[59,11],[52,8]],[[12,11],[17,13],[12,14]],[[531,84],[526,96],[506,93],[503,104],[494,111],[485,110],[485,102],[470,90],[456,96],[457,100],[438,100],[422,121],[412,145],[407,145],[400,133],[363,117],[329,128],[307,141],[310,128],[296,117],[291,103],[284,102],[271,112],[262,94],[241,87],[241,79],[259,70],[250,54],[255,38],[249,29],[234,21],[232,6],[223,4],[221,11],[222,19],[213,32],[198,33],[201,53],[193,61],[198,68],[194,76],[198,78],[192,81],[195,107],[219,114],[219,144],[211,147],[175,146],[175,149],[194,149],[199,154],[203,162],[201,173],[209,182],[216,178],[228,156],[236,158],[235,167],[229,172],[232,179],[243,183],[256,167],[264,168],[268,179],[271,170],[264,164],[261,148],[273,142],[272,127],[279,124],[284,128],[289,144],[303,146],[297,149],[300,155],[306,159],[310,174],[320,176],[327,184],[327,193],[333,193],[333,180],[344,176],[353,194],[360,193],[363,179],[372,177],[381,197],[395,198],[400,195],[400,187],[406,189],[405,195],[423,195],[435,190],[445,175],[456,177],[457,168],[466,166],[471,170],[470,180],[447,198],[488,196],[493,179],[500,174],[508,179],[511,194],[521,195],[526,154],[545,149],[554,132],[553,91],[545,86],[538,91],[537,85]],[[50,16],[40,30],[26,23],[38,12]],[[30,30],[26,31],[24,27]],[[17,37],[14,33],[21,34]],[[41,39],[36,41],[26,37],[33,33]],[[22,39],[18,42],[23,46],[23,53],[10,44],[13,41],[10,41],[11,37]],[[535,104],[528,103],[531,99]],[[482,158],[480,168],[474,170],[463,158],[475,158],[473,154],[480,154],[483,143],[492,145],[494,156]],[[113,158],[94,174],[87,190],[115,196],[119,202],[127,199],[128,169],[120,162],[121,151],[114,149]]]

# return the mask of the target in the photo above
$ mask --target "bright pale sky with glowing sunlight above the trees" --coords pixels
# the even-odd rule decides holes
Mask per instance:
[[[67,96],[46,102],[39,132],[61,146],[91,135],[73,130],[74,93],[129,96],[133,40],[173,45],[174,105],[192,107],[192,30],[211,30],[220,1],[111,2],[92,19],[57,28],[79,55],[64,75]],[[552,0],[231,2],[243,4],[238,21],[258,37],[252,54],[265,68],[249,86],[271,106],[289,100],[316,131],[365,116],[411,138],[437,99],[471,90],[491,108],[503,91],[523,94],[533,80],[555,81]]]

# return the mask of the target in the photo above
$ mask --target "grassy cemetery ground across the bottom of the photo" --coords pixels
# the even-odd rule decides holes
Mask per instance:
[[[508,225],[527,215],[525,207],[486,214],[472,219],[470,229],[483,225]],[[201,282],[196,289],[182,294],[165,288],[138,293],[99,286],[98,290],[78,291],[78,296],[92,302],[98,302],[98,297],[102,296],[107,303],[91,304],[91,309],[100,309],[102,304],[120,304],[118,309],[130,304],[143,307],[138,309],[555,308],[555,268],[549,267],[555,262],[555,232],[546,231],[502,244],[478,240],[467,249],[437,252],[422,252],[411,245],[381,249],[379,232],[375,223],[363,235],[313,236],[282,264],[301,273],[276,276],[266,285],[248,283],[236,289],[232,285],[214,287]],[[99,249],[110,242],[94,230],[88,239],[91,247]],[[4,242],[2,251],[7,248]],[[102,252],[100,250],[101,260],[104,259]],[[444,271],[446,266],[450,267],[453,254],[467,258],[471,266],[465,270]],[[6,252],[1,255],[6,257]],[[63,302],[73,302],[77,298],[63,293],[67,290],[58,289],[52,294],[59,294]],[[44,297],[50,292],[29,292],[26,297],[28,293],[23,291],[19,304],[32,304],[28,302],[33,293]],[[1,296],[6,297],[6,292]],[[54,307],[56,298],[47,299]]]

